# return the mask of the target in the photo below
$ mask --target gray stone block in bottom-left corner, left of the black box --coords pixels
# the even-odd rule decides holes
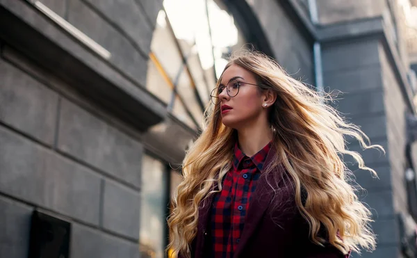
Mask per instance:
[[[0,211],[0,257],[28,257],[33,209],[0,197]]]

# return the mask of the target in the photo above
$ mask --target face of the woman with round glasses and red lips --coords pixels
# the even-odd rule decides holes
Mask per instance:
[[[238,94],[230,97],[227,94],[227,83],[231,91],[238,86]],[[222,113],[222,122],[225,126],[234,129],[245,127],[248,123],[256,122],[263,113],[263,95],[256,84],[252,72],[238,65],[231,65],[223,72],[219,85],[219,101]],[[233,96],[233,94],[231,94]]]

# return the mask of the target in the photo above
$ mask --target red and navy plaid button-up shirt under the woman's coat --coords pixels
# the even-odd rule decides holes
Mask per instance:
[[[233,166],[223,179],[223,188],[213,200],[211,211],[211,236],[213,257],[230,258],[238,246],[245,225],[251,195],[261,175],[263,163],[270,151],[271,143],[248,157],[236,143]]]

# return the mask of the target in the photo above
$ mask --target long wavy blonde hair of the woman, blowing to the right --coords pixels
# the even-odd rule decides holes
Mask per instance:
[[[311,241],[318,245],[328,241],[343,253],[374,250],[371,213],[359,202],[357,188],[350,184],[352,172],[342,159],[350,155],[359,168],[376,176],[364,165],[361,155],[345,148],[345,136],[356,138],[364,149],[377,147],[383,151],[382,147],[370,145],[359,127],[345,122],[328,105],[332,95],[316,92],[293,79],[272,58],[244,50],[232,55],[224,70],[232,64],[252,72],[261,90],[277,94],[269,116],[277,155],[265,173],[284,165],[295,190],[297,208],[309,223]],[[236,142],[234,129],[222,124],[220,105],[211,104],[204,114],[202,134],[183,160],[183,182],[173,197],[174,209],[168,218],[171,240],[167,250],[184,257],[190,257],[190,243],[197,234],[198,207],[208,195],[221,191]],[[327,239],[320,236],[320,225],[327,229]]]

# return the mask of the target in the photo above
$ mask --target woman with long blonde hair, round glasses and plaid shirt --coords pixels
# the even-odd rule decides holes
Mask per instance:
[[[231,57],[183,161],[168,220],[179,257],[348,257],[373,250],[347,183],[343,135],[367,138],[325,97],[255,51]],[[368,138],[367,138],[368,139]],[[378,146],[379,147],[379,146]]]

